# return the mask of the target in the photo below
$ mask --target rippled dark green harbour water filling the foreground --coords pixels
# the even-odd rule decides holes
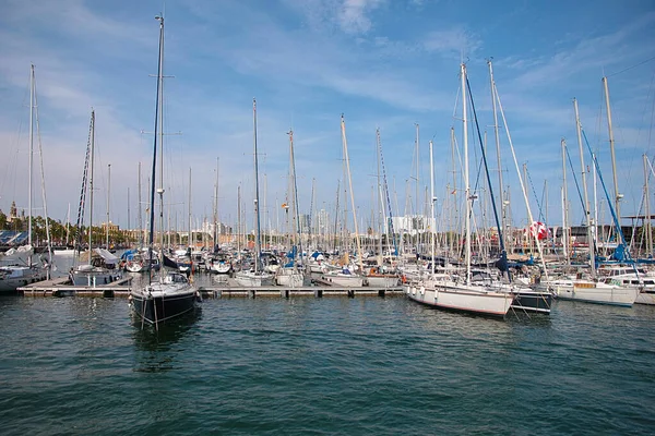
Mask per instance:
[[[655,307],[495,320],[404,298],[0,299],[0,434],[653,434]]]

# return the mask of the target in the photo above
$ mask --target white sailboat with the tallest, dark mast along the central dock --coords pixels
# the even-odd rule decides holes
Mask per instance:
[[[255,217],[255,234],[254,234],[254,262],[252,268],[241,269],[235,275],[237,283],[242,287],[263,287],[273,286],[274,275],[265,271],[262,264],[262,247],[261,247],[261,222],[259,210],[259,164],[257,156],[257,100],[252,99],[252,126],[253,126],[253,147],[254,147],[254,217]]]

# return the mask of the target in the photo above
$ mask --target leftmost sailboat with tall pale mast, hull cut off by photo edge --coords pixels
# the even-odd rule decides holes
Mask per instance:
[[[29,192],[28,192],[28,227],[27,245],[12,249],[0,254],[0,293],[15,292],[19,287],[45,280],[48,276],[48,266],[32,263],[34,249],[32,247],[32,156],[34,155],[34,116],[36,109],[36,84],[34,65],[31,65],[29,74]],[[47,217],[47,214],[46,214]],[[47,221],[46,221],[47,223]],[[49,243],[48,243],[49,244]],[[26,263],[25,263],[25,259]]]

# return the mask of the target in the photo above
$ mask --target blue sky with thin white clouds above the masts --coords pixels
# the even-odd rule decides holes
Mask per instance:
[[[26,105],[34,63],[49,215],[66,219],[69,203],[71,215],[76,215],[93,107],[94,221],[106,216],[111,164],[111,220],[128,225],[129,189],[134,227],[138,162],[143,164],[145,198],[152,160],[152,135],[141,131],[153,130],[156,81],[150,75],[156,73],[158,40],[154,16],[163,3],[9,0],[2,9],[0,144],[5,158],[0,164],[0,208],[9,211],[13,199],[19,206],[27,203]],[[273,225],[287,186],[289,129],[295,132],[300,210],[309,211],[312,181],[314,210],[334,210],[343,178],[341,113],[362,220],[370,217],[376,183],[376,128],[381,132],[393,214],[414,211],[415,123],[420,125],[421,192],[429,181],[432,138],[436,195],[442,204],[452,177],[451,126],[462,143],[462,59],[480,123],[492,137],[486,64],[490,57],[519,164],[527,164],[539,202],[548,181],[549,221],[561,222],[562,137],[580,172],[572,97],[579,99],[582,124],[611,189],[604,74],[609,76],[622,214],[639,207],[641,156],[655,153],[652,1],[189,0],[167,1],[165,16],[165,74],[175,78],[165,84],[164,129],[182,132],[165,141],[165,185],[171,219],[177,211],[180,228],[187,227],[189,168],[194,219],[211,216],[216,158],[221,220],[236,221],[239,184],[251,213],[253,97],[260,190],[262,197],[266,194],[261,202]],[[505,183],[515,186],[504,135],[501,144]],[[495,161],[495,155],[490,159]],[[471,168],[475,178],[477,165]],[[572,180],[570,173],[568,178]],[[572,182],[569,196],[573,220],[580,221]],[[35,198],[40,205],[38,191]],[[513,218],[521,221],[525,206],[515,187],[511,198]],[[534,194],[531,202],[536,216]],[[546,204],[541,206],[545,211]]]

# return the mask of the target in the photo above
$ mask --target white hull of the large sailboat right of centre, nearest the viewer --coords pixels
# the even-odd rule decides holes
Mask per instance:
[[[454,282],[436,282],[433,287],[428,288],[420,283],[410,283],[405,284],[404,289],[407,296],[418,303],[495,316],[504,316],[514,300],[512,292]]]

